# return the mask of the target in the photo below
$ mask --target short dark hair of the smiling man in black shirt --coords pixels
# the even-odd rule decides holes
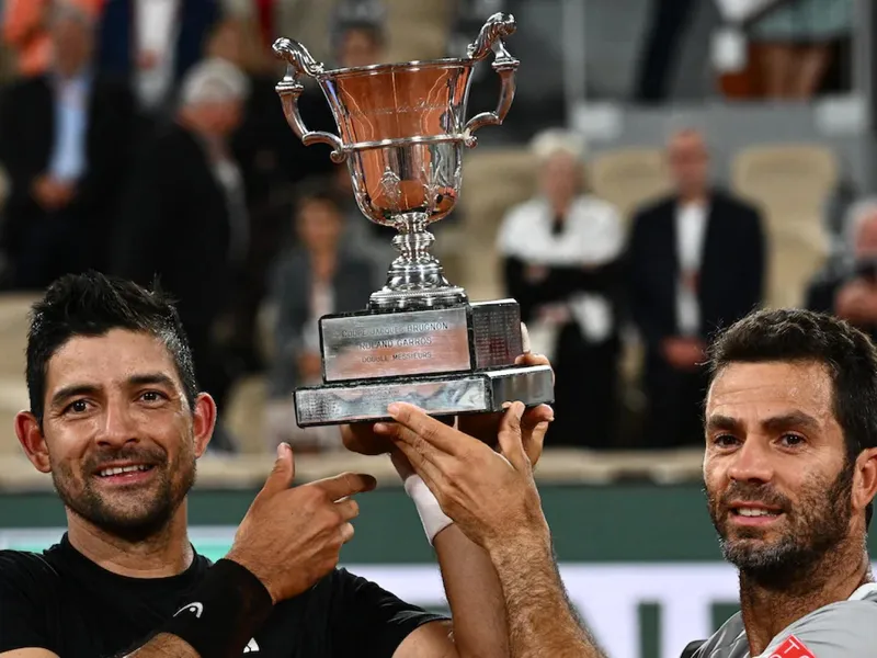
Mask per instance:
[[[149,333],[173,356],[183,393],[194,409],[197,396],[192,350],[172,299],[156,282],[151,290],[98,272],[55,281],[31,310],[27,333],[27,395],[42,424],[48,362],[70,339],[104,336],[112,329]]]

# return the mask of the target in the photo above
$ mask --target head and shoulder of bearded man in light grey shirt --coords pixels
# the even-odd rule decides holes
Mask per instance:
[[[874,345],[829,316],[762,311],[710,365],[704,479],[742,611],[694,656],[877,656]]]

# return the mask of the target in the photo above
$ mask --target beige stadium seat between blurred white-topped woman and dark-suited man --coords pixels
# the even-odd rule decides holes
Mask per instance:
[[[625,148],[597,154],[589,166],[593,193],[614,204],[625,219],[637,208],[671,191],[663,152],[657,148]]]

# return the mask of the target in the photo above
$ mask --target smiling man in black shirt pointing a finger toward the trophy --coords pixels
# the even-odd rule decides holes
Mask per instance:
[[[185,497],[216,406],[197,393],[161,293],[100,274],[57,281],[34,307],[27,386],[15,432],[52,474],[68,532],[42,555],[0,552],[0,657],[508,655],[502,591],[479,546],[433,514],[453,625],[337,569],[352,496],[375,481],[291,487],[285,444],[228,555],[197,555]]]

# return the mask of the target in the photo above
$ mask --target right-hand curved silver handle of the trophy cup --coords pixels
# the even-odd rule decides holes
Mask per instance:
[[[515,72],[521,64],[517,59],[512,57],[512,54],[505,49],[504,38],[514,34],[516,24],[512,14],[503,14],[501,12],[494,13],[490,16],[481,32],[478,33],[476,38],[467,48],[469,59],[479,61],[486,59],[490,53],[493,53],[493,70],[499,73],[502,80],[502,89],[500,90],[500,100],[497,103],[497,109],[493,112],[481,112],[476,114],[468,122],[464,128],[465,144],[469,148],[478,143],[475,133],[478,128],[483,126],[498,126],[502,124],[509,109],[512,106],[515,92]]]

